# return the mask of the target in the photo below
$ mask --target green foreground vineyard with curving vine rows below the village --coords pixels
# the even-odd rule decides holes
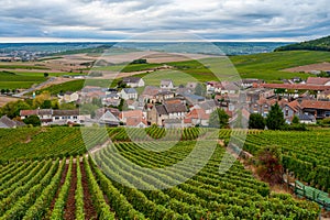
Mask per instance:
[[[210,141],[219,134],[220,139],[229,139],[230,130],[219,133],[207,129],[148,128],[146,133],[153,138],[150,141],[141,138],[143,131],[139,129],[130,131],[131,138],[123,129],[107,129],[113,143],[91,150],[89,155],[84,141],[95,146],[105,143],[102,132],[96,128],[82,130],[84,141],[80,128],[12,131],[0,130],[0,219],[317,219],[319,215],[312,202],[273,193],[239,161],[220,174],[226,150],[217,145],[212,151]],[[300,135],[295,138],[297,133]],[[246,143],[254,143],[255,147],[267,142],[283,144],[285,155],[295,152],[301,161],[318,155],[316,167],[328,166],[328,142],[321,142],[321,136],[327,136],[329,130],[314,131],[318,135],[310,135],[311,141],[305,132],[297,133],[252,131]],[[198,134],[206,139],[195,146]],[[174,142],[177,136],[180,141]],[[302,150],[295,140],[300,140]],[[194,166],[170,168],[196,147],[205,152],[195,154],[196,162],[210,155],[196,175]],[[255,151],[248,145],[245,148]],[[302,156],[302,151],[315,154]],[[168,169],[160,169],[164,167]],[[191,178],[182,182],[186,176]],[[168,188],[172,185],[176,186]]]

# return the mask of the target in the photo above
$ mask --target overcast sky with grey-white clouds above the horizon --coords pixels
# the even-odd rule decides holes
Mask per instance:
[[[330,35],[329,0],[0,0],[0,42],[118,41],[148,32],[207,40]]]

